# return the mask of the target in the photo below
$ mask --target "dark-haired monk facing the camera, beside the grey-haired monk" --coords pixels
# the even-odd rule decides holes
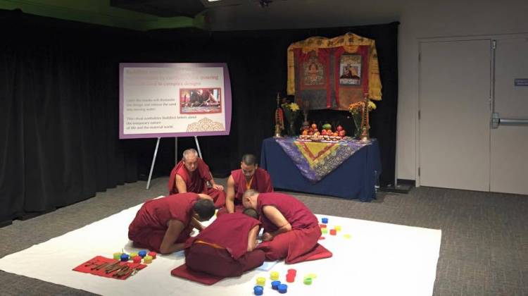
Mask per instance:
[[[253,154],[244,154],[240,161],[240,169],[231,172],[227,179],[225,207],[218,211],[218,215],[244,211],[242,195],[246,190],[258,192],[273,192],[270,174],[259,168]]]

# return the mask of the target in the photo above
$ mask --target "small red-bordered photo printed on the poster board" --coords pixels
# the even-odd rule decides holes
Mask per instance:
[[[220,87],[180,89],[180,113],[203,114],[222,112]]]

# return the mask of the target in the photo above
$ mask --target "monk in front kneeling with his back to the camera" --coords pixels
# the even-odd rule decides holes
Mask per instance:
[[[255,249],[260,222],[254,209],[222,215],[185,243],[185,264],[213,276],[240,276],[263,264],[264,252]]]

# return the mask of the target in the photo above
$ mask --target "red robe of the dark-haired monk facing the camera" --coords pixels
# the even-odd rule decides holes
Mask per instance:
[[[244,211],[242,205],[242,195],[248,190],[246,185],[246,176],[241,169],[231,171],[231,176],[234,181],[234,211]],[[258,192],[273,192],[273,185],[271,183],[270,174],[263,168],[257,168],[249,189],[257,190]],[[227,213],[227,209],[222,208],[218,211],[218,215]]]

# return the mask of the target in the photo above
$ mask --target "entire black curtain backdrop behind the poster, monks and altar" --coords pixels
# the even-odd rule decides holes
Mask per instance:
[[[353,32],[375,39],[383,101],[371,113],[379,140],[381,185],[394,180],[398,23],[305,30],[132,32],[0,11],[0,222],[79,202],[148,175],[156,139],[118,140],[120,62],[225,62],[232,81],[230,135],[200,137],[214,175],[229,175],[240,156],[260,156],[273,135],[277,92],[285,94],[287,47],[312,36]],[[310,111],[339,122],[345,111]],[[299,118],[298,126],[300,126]],[[178,139],[178,155],[194,139]],[[154,175],[168,175],[174,139],[165,138]]]

